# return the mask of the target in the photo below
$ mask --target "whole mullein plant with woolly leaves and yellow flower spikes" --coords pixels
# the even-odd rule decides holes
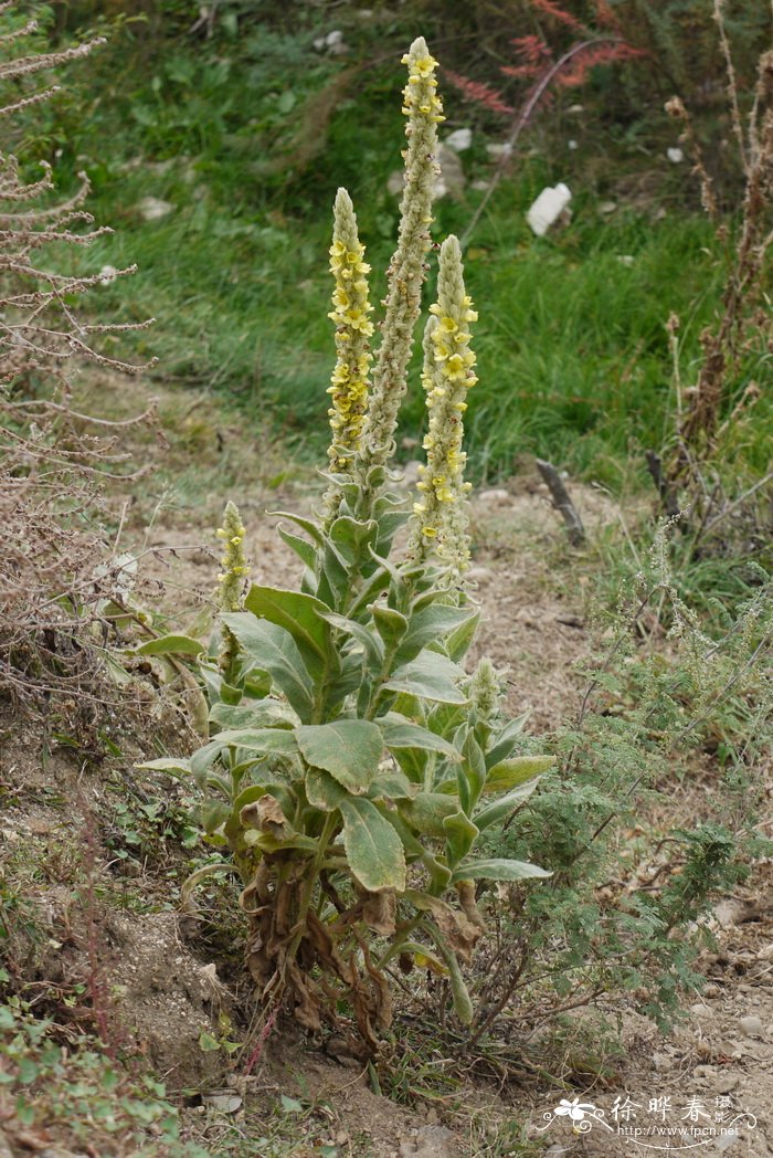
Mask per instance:
[[[474,855],[480,834],[523,805],[552,758],[523,755],[523,721],[502,714],[492,665],[463,666],[479,618],[464,579],[462,448],[477,315],[455,237],[440,249],[425,331],[427,460],[412,510],[388,491],[442,119],[424,39],[404,61],[405,192],[373,362],[369,267],[351,199],[344,190],[336,198],[324,510],[288,514],[292,529],[279,527],[302,579],[297,589],[245,591],[244,529],[229,504],[218,639],[201,668],[212,738],[187,761],[154,762],[207,793],[206,838],[227,858],[199,870],[186,895],[207,873],[240,874],[246,962],[266,1016],[281,1005],[311,1031],[336,1027],[362,1055],[389,1028],[387,967],[397,960],[447,977],[470,1025],[463,970],[484,931],[476,882],[549,875]]]

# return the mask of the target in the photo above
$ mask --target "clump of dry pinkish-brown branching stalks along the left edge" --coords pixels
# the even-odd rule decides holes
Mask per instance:
[[[51,98],[51,69],[87,56],[98,39],[60,52],[27,54],[37,30],[0,5],[0,125]],[[41,74],[43,85],[41,86]],[[0,152],[0,692],[35,703],[51,694],[87,691],[96,654],[87,644],[100,601],[113,594],[119,563],[101,526],[101,484],[131,481],[120,427],[128,422],[81,413],[73,405],[73,371],[133,374],[141,367],[100,352],[104,335],[143,328],[84,321],[73,302],[104,280],[51,266],[46,247],[86,247],[104,234],[83,208],[86,175],[56,200],[51,168],[27,181],[13,155]],[[43,256],[42,256],[43,255]],[[61,256],[58,265],[61,266]],[[111,277],[132,269],[111,271]],[[108,624],[104,624],[106,629]]]

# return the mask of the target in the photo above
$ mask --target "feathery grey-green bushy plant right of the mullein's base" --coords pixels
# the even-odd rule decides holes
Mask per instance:
[[[613,1009],[619,994],[667,1028],[680,995],[702,984],[697,958],[714,900],[770,855],[756,828],[773,716],[770,579],[760,573],[734,613],[714,608],[709,629],[668,556],[664,525],[602,614],[604,645],[558,733],[555,769],[491,841],[492,852],[535,857],[553,875],[501,899],[496,939],[480,950],[487,968],[471,987],[476,1039],[501,1036],[508,1020]],[[675,826],[675,793],[694,799],[692,823]]]

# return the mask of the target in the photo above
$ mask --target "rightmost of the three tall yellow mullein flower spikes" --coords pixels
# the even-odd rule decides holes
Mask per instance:
[[[440,250],[437,305],[430,307],[425,331],[422,382],[427,391],[429,426],[424,440],[427,463],[420,468],[419,499],[413,506],[407,558],[433,557],[458,581],[469,566],[466,454],[462,449],[466,394],[478,381],[472,367],[470,322],[478,315],[464,292],[462,251],[456,237]]]

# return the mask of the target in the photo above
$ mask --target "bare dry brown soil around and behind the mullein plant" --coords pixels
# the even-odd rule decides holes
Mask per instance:
[[[281,586],[294,578],[296,560],[275,535],[275,518],[264,511],[290,503],[294,510],[308,506],[314,493],[305,475],[288,474],[284,464],[271,461],[270,450],[263,467],[275,470],[274,477],[266,483],[264,470],[256,481],[252,469],[245,471],[245,483],[240,478],[243,461],[238,454],[228,457],[237,439],[236,425],[211,422],[207,413],[201,418],[200,409],[193,408],[187,417],[175,411],[171,447],[159,452],[171,464],[171,474],[177,461],[190,460],[191,447],[200,452],[187,499],[168,505],[156,492],[140,496],[127,523],[147,527],[148,511],[155,510],[150,528],[139,538],[131,526],[126,532],[126,549],[141,550],[147,580],[163,581],[165,608],[182,628],[208,607],[216,541],[203,528],[216,525],[223,500],[234,496],[240,501],[255,578]],[[618,525],[616,504],[601,491],[574,486],[573,496],[591,536]],[[590,648],[582,562],[579,557],[576,567],[565,562],[557,567],[557,558],[566,559],[562,529],[546,492],[531,478],[477,494],[472,526],[472,578],[484,610],[477,648],[509,667],[510,706],[518,712],[529,709],[530,728],[539,734],[576,709],[580,677],[575,666]],[[557,579],[559,571],[562,579]],[[88,930],[67,928],[73,881],[67,858],[82,859],[72,848],[82,849],[88,818],[104,802],[111,775],[135,783],[134,763],[143,755],[156,755],[154,741],[159,739],[170,750],[176,743],[190,749],[192,731],[183,719],[174,704],[161,710],[152,695],[140,697],[123,724],[117,724],[120,756],[104,757],[87,772],[50,736],[39,731],[24,733],[9,718],[0,721],[5,738],[0,783],[6,791],[13,787],[0,820],[0,872],[19,860],[22,848],[28,859],[32,852],[31,864],[35,856],[50,858],[52,850],[61,858],[59,886],[50,873],[43,879],[30,868],[30,895],[47,911],[51,941],[59,946],[30,965],[31,976],[58,976],[64,984],[88,973]],[[41,752],[51,748],[53,755],[42,760]],[[169,793],[172,807],[176,790],[164,784],[162,791]],[[72,799],[81,801],[78,808],[67,806]],[[689,796],[675,798],[677,814],[680,808],[687,819]],[[243,979],[233,967],[219,965],[215,952],[191,936],[186,918],[168,899],[164,903],[164,880],[178,867],[174,855],[146,862],[139,875],[132,870],[128,881],[109,848],[101,846],[97,858],[108,893],[113,900],[126,895],[123,911],[112,903],[97,910],[104,914],[102,967],[120,995],[120,1024],[131,1045],[169,1087],[185,1091],[186,1121],[213,1150],[241,1137],[244,1149],[238,1152],[258,1158],[289,1153],[303,1158],[319,1153],[323,1145],[333,1148],[325,1152],[337,1158],[484,1158],[543,1151],[613,1156],[687,1149],[729,1150],[751,1158],[773,1155],[770,865],[760,868],[748,888],[717,906],[719,948],[705,958],[706,989],[685,998],[686,1017],[672,1035],[663,1038],[643,1018],[621,1009],[624,1051],[603,1078],[575,1086],[532,1078],[506,1090],[471,1079],[452,1098],[403,1106],[374,1093],[367,1072],[330,1057],[292,1029],[267,1040],[246,1078],[238,1068],[223,1067],[220,1054],[203,1053],[201,1031],[221,1032],[220,1016],[244,997]],[[146,906],[137,902],[140,894],[146,895]],[[67,932],[68,937],[62,936]],[[295,1122],[296,1144],[274,1150],[271,1138],[258,1141],[256,1122],[282,1095],[299,1106],[287,1111]],[[514,1142],[510,1150],[489,1146],[483,1127],[514,1120],[524,1123],[530,1144]],[[658,1123],[663,1130],[653,1133]],[[665,1127],[693,1128],[693,1134],[669,1136]],[[636,1128],[650,1133],[636,1135]],[[695,1134],[698,1129],[705,1133]],[[728,1133],[734,1130],[738,1133]],[[6,1153],[16,1158],[29,1151],[10,1139],[3,1143],[0,1126],[0,1155]],[[65,1151],[46,1153],[54,1158]]]

